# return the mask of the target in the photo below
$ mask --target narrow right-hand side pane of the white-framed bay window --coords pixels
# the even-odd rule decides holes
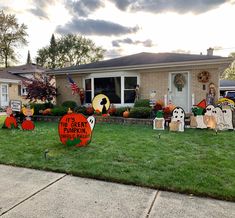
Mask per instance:
[[[137,77],[124,77],[124,103],[134,103]]]

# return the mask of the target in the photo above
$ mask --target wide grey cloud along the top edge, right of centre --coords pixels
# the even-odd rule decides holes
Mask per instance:
[[[120,10],[146,11],[152,13],[162,13],[173,11],[177,13],[192,12],[200,14],[219,7],[231,0],[109,0]]]

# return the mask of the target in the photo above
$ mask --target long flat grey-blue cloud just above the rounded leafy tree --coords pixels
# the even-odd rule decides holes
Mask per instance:
[[[59,34],[80,33],[84,35],[123,35],[136,33],[139,30],[138,26],[126,27],[117,23],[105,20],[73,18],[67,25],[58,26],[56,32]]]

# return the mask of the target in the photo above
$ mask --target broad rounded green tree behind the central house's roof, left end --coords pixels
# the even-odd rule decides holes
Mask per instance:
[[[38,50],[38,64],[59,68],[87,64],[103,59],[104,49],[80,35],[69,34],[57,40],[52,35],[50,46]]]

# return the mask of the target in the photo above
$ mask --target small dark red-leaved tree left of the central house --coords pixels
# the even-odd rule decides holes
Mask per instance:
[[[26,99],[31,102],[36,102],[37,100],[51,102],[57,96],[53,80],[52,76],[45,75],[34,76],[31,80],[24,80],[23,84],[28,91]]]

